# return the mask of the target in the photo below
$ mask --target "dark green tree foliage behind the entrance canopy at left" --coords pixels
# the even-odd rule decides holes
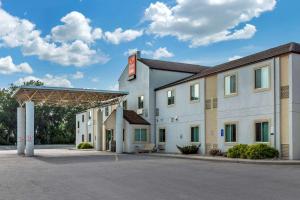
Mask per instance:
[[[40,81],[24,83],[27,86],[42,86]],[[0,145],[16,144],[17,107],[11,97],[17,86],[11,85],[0,90]],[[51,107],[35,106],[35,143],[36,144],[72,144],[75,142],[76,113],[81,106]]]

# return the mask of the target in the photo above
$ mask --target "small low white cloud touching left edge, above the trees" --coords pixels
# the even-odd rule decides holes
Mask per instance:
[[[26,73],[32,74],[31,66],[24,62],[19,65],[13,63],[11,56],[0,58],[0,74]]]

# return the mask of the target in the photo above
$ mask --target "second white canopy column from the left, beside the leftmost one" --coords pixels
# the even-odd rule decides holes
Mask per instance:
[[[34,103],[26,102],[26,150],[25,156],[34,155]]]

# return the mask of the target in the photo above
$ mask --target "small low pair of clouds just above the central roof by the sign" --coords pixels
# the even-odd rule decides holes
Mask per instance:
[[[132,55],[138,51],[137,48],[134,49],[128,49],[126,52],[124,52],[125,56]],[[160,58],[171,58],[174,56],[172,52],[170,52],[167,47],[160,47],[154,51],[152,50],[141,50],[141,54],[145,56],[149,56],[154,59],[160,59]]]

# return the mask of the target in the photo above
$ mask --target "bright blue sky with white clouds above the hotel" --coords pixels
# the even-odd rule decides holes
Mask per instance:
[[[295,0],[0,1],[0,88],[116,89],[129,50],[213,66],[300,42]]]

